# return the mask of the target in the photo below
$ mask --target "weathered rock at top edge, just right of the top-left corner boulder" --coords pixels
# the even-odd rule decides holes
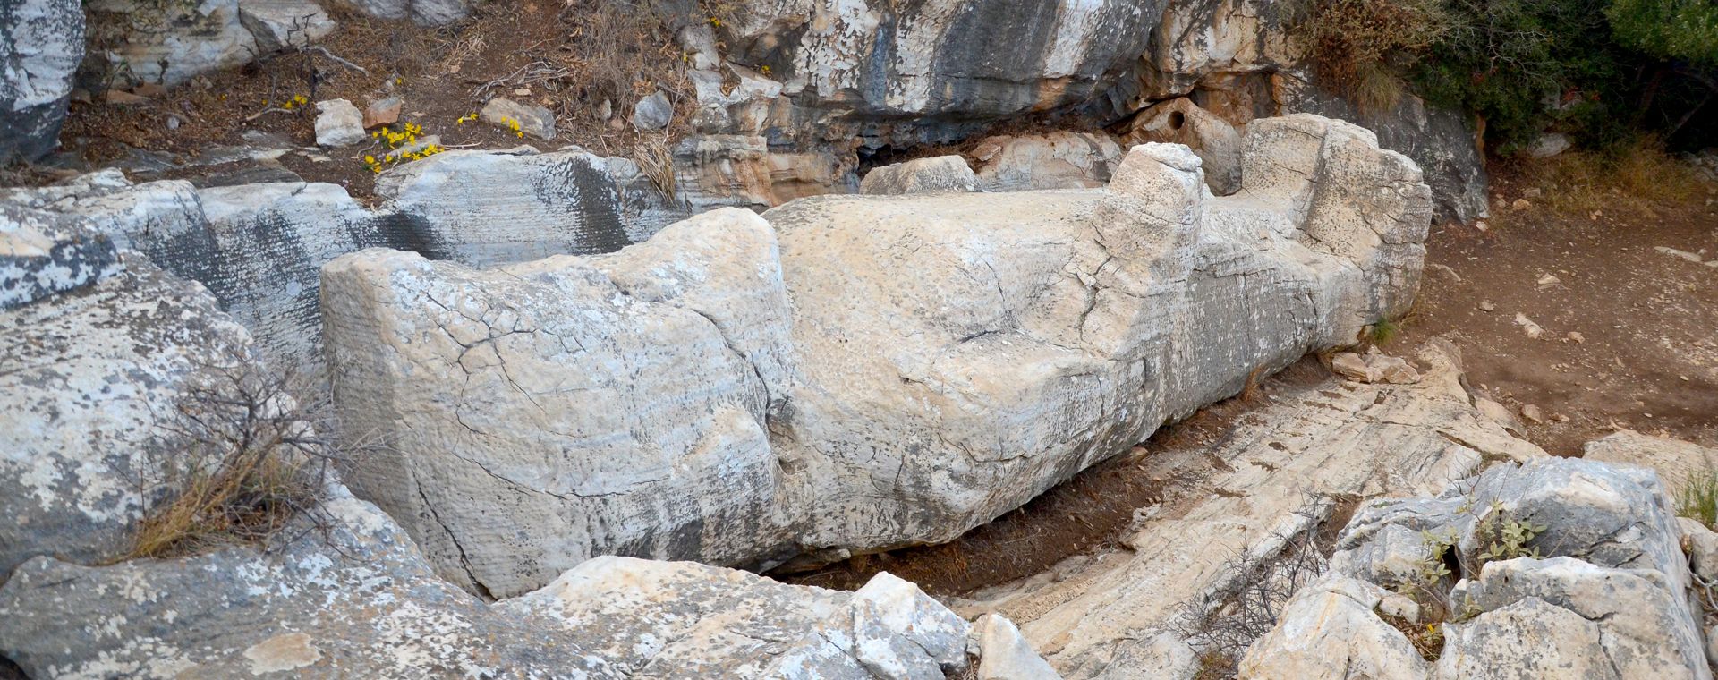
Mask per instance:
[[[89,0],[91,45],[132,82],[175,86],[198,74],[249,64],[256,38],[239,22],[239,0]]]

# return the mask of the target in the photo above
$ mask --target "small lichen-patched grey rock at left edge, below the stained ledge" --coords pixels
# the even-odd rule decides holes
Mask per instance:
[[[113,242],[94,225],[0,203],[0,309],[82,288],[119,270]]]

